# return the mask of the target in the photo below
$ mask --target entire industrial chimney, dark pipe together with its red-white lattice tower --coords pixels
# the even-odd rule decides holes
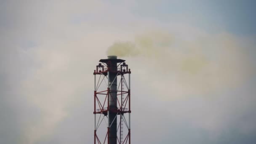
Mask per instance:
[[[123,144],[129,141],[131,144],[131,94],[130,94],[130,74],[125,60],[117,59],[117,56],[108,56],[108,59],[101,59],[99,65],[94,70],[94,144],[101,144],[97,135],[99,123],[107,117],[107,134],[104,142],[107,144]],[[125,80],[128,74],[128,83]],[[99,79],[96,81],[96,75]],[[106,81],[106,89],[98,91],[102,81]],[[117,81],[119,81],[117,83]],[[96,82],[98,82],[96,84]],[[101,98],[100,98],[101,97]],[[103,97],[103,98],[102,98]],[[125,114],[128,113],[126,121]],[[99,114],[99,118],[96,118]],[[101,115],[103,115],[101,118]],[[119,116],[119,117],[117,117]],[[98,119],[98,120],[96,120]],[[96,122],[98,122],[96,124]],[[127,127],[127,135],[124,136],[124,125]]]

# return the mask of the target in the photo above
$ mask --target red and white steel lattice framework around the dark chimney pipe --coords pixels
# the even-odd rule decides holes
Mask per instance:
[[[101,59],[99,65],[94,70],[94,144],[131,144],[131,70],[128,69],[128,65],[125,64],[125,60],[116,59],[116,68],[113,69],[111,61],[108,59]],[[113,82],[109,82],[109,75],[115,74],[115,79],[118,80],[117,91],[111,90]],[[125,79],[125,74],[128,74],[128,83]],[[97,76],[98,75],[98,76]],[[98,79],[98,80],[97,80]],[[106,82],[107,79],[107,82]],[[104,85],[104,83],[106,85]],[[102,88],[103,85],[103,88]],[[99,88],[102,88],[100,91]],[[113,99],[112,94],[116,92],[116,101]],[[109,101],[115,101],[116,108],[109,107]],[[118,119],[116,123],[117,135],[116,142],[111,142],[109,136],[109,129],[114,125],[114,120],[109,120],[109,114],[115,114],[114,120]],[[128,120],[125,119],[128,114]],[[97,117],[96,117],[97,115]],[[99,116],[98,116],[99,115]],[[119,115],[120,117],[117,117]],[[101,117],[102,116],[102,117]],[[109,116],[109,117],[108,117]],[[107,121],[105,120],[107,118]],[[105,121],[107,128],[105,134],[98,136],[98,128]],[[126,130],[124,130],[123,125]],[[101,127],[102,128],[102,127]],[[123,132],[126,132],[125,135]],[[102,131],[101,131],[102,133]],[[125,137],[123,137],[125,136]]]

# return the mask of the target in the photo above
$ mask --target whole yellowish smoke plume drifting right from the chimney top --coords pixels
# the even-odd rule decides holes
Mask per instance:
[[[141,62],[147,65],[141,77],[154,75],[158,81],[148,80],[149,85],[159,91],[172,86],[176,96],[208,94],[235,87],[250,73],[245,65],[248,61],[243,46],[229,34],[184,40],[168,32],[147,32],[136,35],[134,41],[114,43],[107,54],[143,57],[151,65]],[[151,72],[152,64],[163,75]]]

